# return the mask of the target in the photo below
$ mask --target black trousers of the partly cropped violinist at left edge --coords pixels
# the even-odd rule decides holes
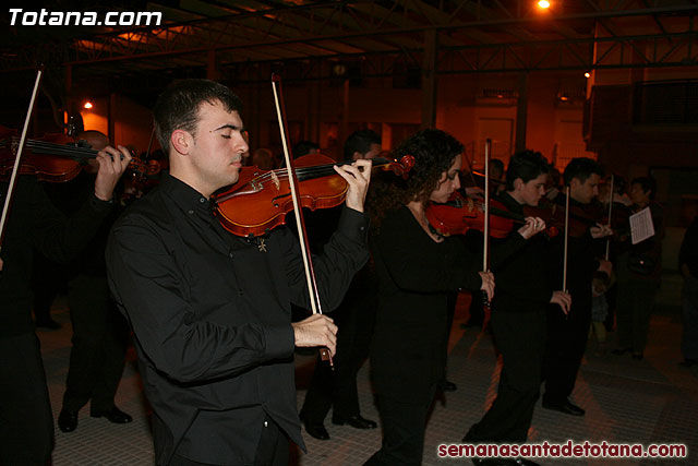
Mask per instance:
[[[45,465],[53,416],[34,333],[0,337],[0,464]]]

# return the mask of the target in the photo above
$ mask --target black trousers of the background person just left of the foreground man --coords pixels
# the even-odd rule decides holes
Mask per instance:
[[[73,346],[63,409],[77,411],[89,401],[92,413],[109,410],[123,372],[128,324],[105,277],[79,275],[70,282],[68,300]]]

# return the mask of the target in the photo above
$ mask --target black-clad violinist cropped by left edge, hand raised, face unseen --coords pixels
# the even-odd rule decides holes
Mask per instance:
[[[31,318],[34,248],[68,262],[113,208],[113,189],[131,162],[125,147],[97,154],[94,191],[70,218],[33,176],[21,176],[0,255],[0,464],[44,465],[53,446],[53,419],[39,343]],[[0,182],[4,203],[7,183]]]

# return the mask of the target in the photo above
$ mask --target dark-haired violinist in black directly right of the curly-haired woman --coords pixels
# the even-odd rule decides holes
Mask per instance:
[[[537,206],[545,194],[549,166],[540,153],[525,151],[512,156],[506,187],[497,200],[512,213]],[[502,355],[497,397],[484,417],[470,428],[464,442],[524,443],[540,392],[545,351],[545,312],[549,303],[567,313],[570,296],[554,290],[547,279],[547,240],[539,217],[504,239],[492,239],[492,272],[497,289],[492,301],[492,331]],[[562,312],[561,312],[562,309]],[[524,464],[534,464],[519,459]],[[476,464],[508,464],[503,459],[474,458]],[[512,463],[517,464],[517,463]]]

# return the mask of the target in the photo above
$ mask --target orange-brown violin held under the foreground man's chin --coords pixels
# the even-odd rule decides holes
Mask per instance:
[[[322,154],[310,154],[294,160],[299,181],[300,203],[311,210],[330,208],[341,204],[347,194],[347,182],[334,170],[336,163]],[[404,156],[399,162],[385,157],[374,158],[374,167],[407,177],[414,166],[414,157]],[[241,167],[240,178],[231,188],[212,196],[214,213],[224,228],[236,236],[265,235],[286,223],[286,214],[293,210],[287,170],[261,170]]]

